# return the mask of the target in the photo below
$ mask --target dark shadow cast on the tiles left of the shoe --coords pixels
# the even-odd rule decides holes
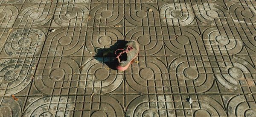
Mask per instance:
[[[123,48],[126,43],[128,43],[128,41],[118,40],[109,48],[96,47],[95,51],[97,52],[97,54],[93,57],[97,61],[106,64],[110,69],[116,70],[116,65],[118,64],[118,62],[116,60],[116,55],[114,52],[119,48]]]

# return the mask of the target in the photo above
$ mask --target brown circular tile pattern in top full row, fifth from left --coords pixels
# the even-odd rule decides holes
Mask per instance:
[[[148,9],[151,9],[152,11],[149,11]],[[136,26],[144,27],[160,25],[160,20],[153,17],[158,14],[157,8],[150,4],[131,4],[131,7],[125,5],[125,19]]]

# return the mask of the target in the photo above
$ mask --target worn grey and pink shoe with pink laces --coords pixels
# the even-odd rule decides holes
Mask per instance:
[[[137,44],[136,41],[131,40],[128,42],[124,49],[117,49],[118,50],[123,50],[121,53],[118,55],[116,54],[116,58],[118,60],[118,65],[116,66],[116,69],[119,71],[124,71],[127,70],[131,62],[138,56],[139,54],[139,45]]]

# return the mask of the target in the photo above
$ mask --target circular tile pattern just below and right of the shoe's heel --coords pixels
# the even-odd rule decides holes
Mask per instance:
[[[137,64],[132,64],[131,67],[125,70],[125,80],[135,91],[150,93],[152,90],[148,89],[148,87],[163,86],[163,84],[156,86],[156,84],[153,83],[155,80],[160,82],[167,79],[169,80],[166,66],[157,58],[146,57],[145,61],[140,61],[140,64],[146,64],[146,66],[138,67]],[[160,93],[163,92],[163,90],[157,92]]]

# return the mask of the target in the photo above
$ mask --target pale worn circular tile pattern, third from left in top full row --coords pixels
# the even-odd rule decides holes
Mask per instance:
[[[70,4],[71,5],[71,4]],[[73,4],[73,6],[64,6],[57,4],[57,8],[54,12],[54,21],[63,27],[81,27],[87,26],[89,10],[84,4]],[[68,9],[72,9],[69,11]]]

